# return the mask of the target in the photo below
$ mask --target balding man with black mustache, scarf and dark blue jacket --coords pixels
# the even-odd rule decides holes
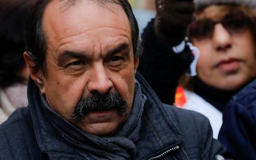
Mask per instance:
[[[205,116],[161,103],[137,73],[138,25],[126,0],[38,0],[26,34],[29,106],[0,126],[0,158],[219,159],[225,152]]]

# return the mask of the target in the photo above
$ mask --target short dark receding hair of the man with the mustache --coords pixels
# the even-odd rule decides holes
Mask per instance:
[[[27,31],[26,31],[26,51],[30,53],[30,60],[35,63],[34,67],[36,69],[42,69],[43,74],[45,74],[45,52],[47,39],[45,38],[42,19],[46,6],[52,0],[38,0],[35,5],[31,8],[27,21]],[[73,5],[77,0],[59,0],[66,1],[65,4]],[[139,38],[139,28],[137,20],[132,12],[132,7],[127,0],[88,0],[95,3],[115,3],[123,7],[131,26],[132,35],[132,45],[134,56],[137,56],[137,44]]]

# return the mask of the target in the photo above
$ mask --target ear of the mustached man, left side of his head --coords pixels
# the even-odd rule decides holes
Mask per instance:
[[[23,53],[23,58],[25,59],[25,62],[27,64],[27,67],[29,69],[29,75],[34,80],[36,85],[39,87],[42,94],[45,93],[45,87],[44,87],[44,75],[41,71],[41,69],[35,68],[35,63],[31,60],[31,54],[27,51]]]

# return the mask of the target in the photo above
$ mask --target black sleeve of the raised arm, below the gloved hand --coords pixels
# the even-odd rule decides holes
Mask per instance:
[[[152,19],[142,34],[143,52],[140,54],[138,71],[146,79],[163,103],[172,105],[178,81],[194,60],[194,55],[185,46],[181,53],[174,53],[172,46],[158,38]],[[160,81],[161,80],[161,81]]]

